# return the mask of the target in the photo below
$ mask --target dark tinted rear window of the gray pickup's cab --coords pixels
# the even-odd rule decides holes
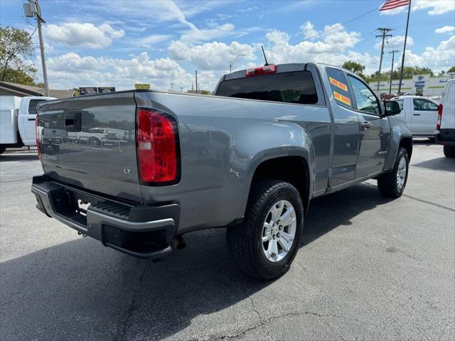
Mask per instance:
[[[216,95],[295,104],[318,102],[313,76],[309,71],[225,80],[218,85]]]

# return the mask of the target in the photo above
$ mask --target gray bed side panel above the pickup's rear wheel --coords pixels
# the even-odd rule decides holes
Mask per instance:
[[[141,186],[141,194],[150,205],[177,201],[181,233],[245,215],[255,170],[272,158],[300,156],[309,166],[310,196],[326,188],[327,107],[159,92],[137,92],[135,99],[138,107],[159,109],[178,121],[180,183]]]

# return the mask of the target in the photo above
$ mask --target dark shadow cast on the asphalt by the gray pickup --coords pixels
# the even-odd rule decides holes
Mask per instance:
[[[314,200],[303,244],[386,202],[366,184]],[[225,229],[186,239],[186,249],[163,261],[134,259],[87,238],[2,262],[3,340],[161,340],[199,315],[225,314],[226,323],[251,318],[227,308],[241,301],[250,307],[246,298],[271,282],[230,265]]]

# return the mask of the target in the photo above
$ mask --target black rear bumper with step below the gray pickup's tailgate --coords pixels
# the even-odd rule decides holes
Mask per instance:
[[[180,206],[127,205],[98,195],[33,177],[38,210],[125,254],[155,258],[172,251]],[[90,202],[83,210],[78,201]],[[81,214],[82,213],[82,214]]]

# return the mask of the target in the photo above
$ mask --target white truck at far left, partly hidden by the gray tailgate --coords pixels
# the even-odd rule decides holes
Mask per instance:
[[[36,104],[53,97],[0,96],[0,154],[6,148],[36,146]]]

